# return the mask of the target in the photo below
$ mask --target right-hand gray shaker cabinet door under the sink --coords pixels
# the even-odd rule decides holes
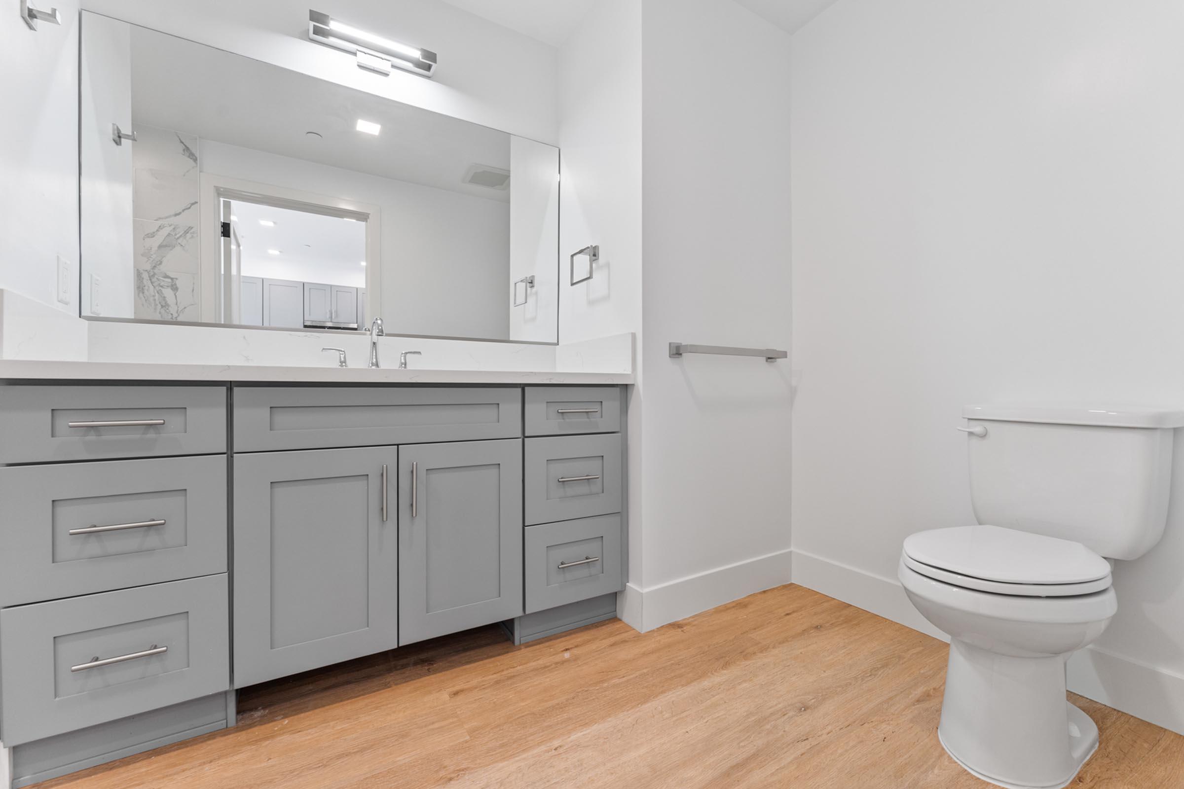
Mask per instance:
[[[522,615],[522,441],[399,447],[399,644]]]

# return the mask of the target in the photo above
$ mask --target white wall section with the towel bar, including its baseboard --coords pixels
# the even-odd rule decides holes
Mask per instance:
[[[643,6],[644,629],[790,580],[789,34],[732,0]],[[707,52],[742,52],[744,69]],[[636,436],[635,436],[636,438]]]

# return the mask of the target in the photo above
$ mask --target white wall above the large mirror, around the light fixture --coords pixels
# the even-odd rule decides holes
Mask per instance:
[[[432,50],[439,56],[432,79],[398,69],[387,77],[374,75],[359,69],[352,56],[309,41],[308,4],[83,0],[83,6],[407,104],[555,142],[555,48],[438,0],[330,0],[315,6],[350,25]]]

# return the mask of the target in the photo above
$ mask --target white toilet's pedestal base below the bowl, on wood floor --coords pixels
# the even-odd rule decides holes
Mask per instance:
[[[1066,698],[1067,657],[1011,657],[952,640],[938,727],[946,752],[1008,789],[1068,785],[1098,750],[1098,726]]]

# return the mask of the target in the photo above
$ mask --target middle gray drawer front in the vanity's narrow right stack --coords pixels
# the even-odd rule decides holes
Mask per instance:
[[[523,477],[527,525],[620,512],[620,435],[527,439]]]

